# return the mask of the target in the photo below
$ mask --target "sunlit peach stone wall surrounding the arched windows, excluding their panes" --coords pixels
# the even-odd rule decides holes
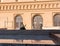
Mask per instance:
[[[14,1],[0,3],[0,28],[15,30],[15,17],[19,15],[23,18],[25,28],[30,30],[33,29],[33,17],[39,15],[43,19],[43,29],[60,29],[59,26],[54,26],[53,23],[53,16],[60,14],[60,1]]]

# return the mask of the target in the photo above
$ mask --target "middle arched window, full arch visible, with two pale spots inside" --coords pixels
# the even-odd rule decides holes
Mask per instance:
[[[33,28],[35,30],[40,30],[42,29],[42,25],[43,25],[43,19],[40,15],[35,15],[33,17]]]

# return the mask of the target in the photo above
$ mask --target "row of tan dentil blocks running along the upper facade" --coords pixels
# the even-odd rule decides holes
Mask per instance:
[[[35,9],[50,9],[50,8],[60,8],[59,3],[48,3],[48,4],[10,4],[10,5],[1,5],[0,10],[35,10]]]

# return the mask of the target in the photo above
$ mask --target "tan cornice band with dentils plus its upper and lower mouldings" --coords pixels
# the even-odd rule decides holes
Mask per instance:
[[[60,2],[41,3],[1,3],[1,10],[37,10],[37,9],[60,9]]]

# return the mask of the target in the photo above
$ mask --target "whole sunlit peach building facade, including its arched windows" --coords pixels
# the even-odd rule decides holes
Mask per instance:
[[[59,0],[0,0],[0,28],[60,29]]]

